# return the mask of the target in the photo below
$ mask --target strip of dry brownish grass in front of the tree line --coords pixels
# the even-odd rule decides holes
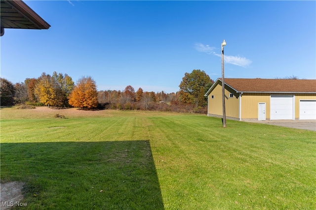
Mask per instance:
[[[12,112],[14,110],[14,112]],[[66,118],[99,118],[99,117],[121,117],[123,116],[163,116],[179,115],[178,113],[166,113],[158,111],[120,111],[120,110],[96,110],[86,111],[78,108],[54,109],[48,107],[36,107],[36,109],[17,109],[16,107],[1,107],[0,118],[6,119],[50,119],[55,118],[56,114],[63,115]]]

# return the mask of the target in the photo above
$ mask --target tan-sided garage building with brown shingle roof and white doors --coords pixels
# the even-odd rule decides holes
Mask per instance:
[[[230,119],[316,120],[316,80],[226,78],[225,83],[226,95],[234,95],[225,100]],[[207,116],[223,117],[222,88],[218,78],[206,92]]]

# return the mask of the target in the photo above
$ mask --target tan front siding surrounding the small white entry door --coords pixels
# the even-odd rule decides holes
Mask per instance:
[[[266,118],[270,119],[270,93],[243,93],[241,96],[241,118],[258,119],[258,103],[266,103]]]

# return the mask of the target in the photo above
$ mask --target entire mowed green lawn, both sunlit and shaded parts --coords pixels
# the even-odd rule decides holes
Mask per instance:
[[[316,209],[314,131],[163,112],[26,112],[1,109],[0,134],[1,182],[25,182],[28,209]]]

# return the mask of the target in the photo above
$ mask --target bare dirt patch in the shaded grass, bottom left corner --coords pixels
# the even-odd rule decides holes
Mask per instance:
[[[19,202],[23,199],[22,189],[23,189],[23,182],[12,181],[7,183],[1,183],[1,210],[8,210],[10,209],[10,205],[15,205],[16,202]],[[7,205],[3,205],[4,202],[7,202]],[[13,202],[13,203],[10,203]]]

